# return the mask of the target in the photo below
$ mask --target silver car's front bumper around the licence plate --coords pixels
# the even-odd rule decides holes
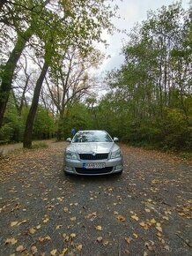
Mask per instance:
[[[101,169],[85,169],[83,164],[85,162],[105,162],[105,168]],[[113,173],[122,172],[123,164],[122,157],[109,159],[109,160],[100,160],[100,161],[85,161],[85,160],[70,160],[64,159],[63,170],[68,174],[76,175],[107,175]]]

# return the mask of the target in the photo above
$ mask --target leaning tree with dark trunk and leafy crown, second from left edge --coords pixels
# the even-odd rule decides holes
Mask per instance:
[[[48,71],[48,66],[53,67],[54,64],[58,64],[55,61],[60,59],[58,56],[61,55],[61,52],[74,48],[74,45],[78,45],[79,52],[88,55],[91,52],[90,49],[92,49],[90,47],[92,41],[102,41],[100,39],[101,29],[111,28],[109,19],[113,14],[111,11],[108,11],[109,6],[106,6],[103,1],[100,1],[96,6],[92,7],[92,3],[95,3],[95,1],[90,0],[88,4],[81,3],[78,6],[76,5],[76,1],[66,3],[64,6],[63,3],[59,4],[58,8],[64,11],[64,17],[60,17],[60,13],[55,13],[52,15],[51,26],[41,27],[41,32],[39,31],[38,36],[44,42],[45,61],[41,76],[34,89],[33,102],[26,120],[24,147],[32,147],[33,122],[41,93],[42,82]],[[79,9],[81,10],[80,12]],[[92,14],[97,14],[96,19],[92,19]],[[84,75],[84,81],[85,77],[86,75]],[[77,84],[77,81],[75,85],[77,95],[80,91],[82,92],[82,85]]]

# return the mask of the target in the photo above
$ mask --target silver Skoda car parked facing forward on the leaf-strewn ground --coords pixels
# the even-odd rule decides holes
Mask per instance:
[[[64,154],[63,171],[65,174],[105,175],[122,174],[122,152],[120,147],[105,131],[79,131]]]

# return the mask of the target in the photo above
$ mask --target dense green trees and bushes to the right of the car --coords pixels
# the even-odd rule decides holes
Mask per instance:
[[[139,146],[192,148],[191,18],[181,4],[151,11],[129,34],[125,63],[107,74],[97,127]]]

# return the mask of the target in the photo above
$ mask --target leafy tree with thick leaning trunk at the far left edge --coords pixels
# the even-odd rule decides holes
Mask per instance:
[[[48,11],[45,11],[44,7],[46,6],[46,4],[48,4],[48,2],[49,1],[46,0],[44,2],[41,1],[40,4],[36,4],[36,5],[32,4],[33,11],[28,11],[28,10],[31,10],[30,7],[32,6],[28,7],[26,6],[25,3],[18,3],[18,1],[15,1],[11,6],[12,7],[11,11],[9,11],[9,17],[8,18],[5,17],[3,19],[4,23],[8,23],[10,24],[10,26],[14,27],[15,32],[18,35],[18,38],[6,64],[4,64],[4,66],[2,67],[1,87],[0,87],[0,127],[2,126],[4,121],[4,112],[6,109],[7,102],[9,100],[9,95],[11,92],[11,83],[12,83],[14,71],[18,64],[18,59],[21,56],[22,51],[26,47],[26,42],[29,41],[29,39],[35,33],[35,30],[37,32],[37,28],[40,26],[40,24],[38,24],[38,21],[40,21],[39,17],[41,17],[42,11],[44,11],[43,14],[45,15],[44,19],[46,21],[46,14],[48,14]],[[6,2],[6,3],[8,5],[10,4],[9,2]],[[29,3],[29,5],[31,5],[31,3]],[[8,10],[10,10],[10,8],[8,8]],[[25,13],[26,10],[27,10],[27,13]],[[16,19],[19,11],[23,11],[22,15],[23,14],[24,15],[21,19]],[[14,15],[12,15],[13,13]],[[26,19],[25,14],[28,14],[30,18]],[[26,27],[26,21],[29,21],[28,27]],[[42,19],[41,19],[41,22],[42,22]],[[44,22],[44,25],[46,25],[46,22]],[[26,27],[25,31],[23,31],[22,26]]]

